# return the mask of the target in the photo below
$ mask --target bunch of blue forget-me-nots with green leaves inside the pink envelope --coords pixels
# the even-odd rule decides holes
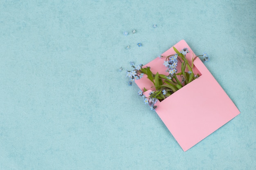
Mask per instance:
[[[192,62],[189,63],[186,59],[186,54],[189,53],[188,48],[183,48],[181,51],[178,51],[173,46],[173,49],[176,53],[166,56],[163,63],[163,65],[167,67],[166,72],[169,73],[168,75],[159,74],[158,72],[154,74],[150,70],[150,67],[147,66],[143,68],[142,64],[134,66],[133,63],[131,65],[134,69],[132,71],[127,71],[126,73],[126,76],[130,78],[130,84],[131,82],[140,79],[144,74],[146,74],[148,79],[152,82],[151,88],[154,88],[154,91],[150,92],[149,97],[143,95],[143,91],[138,91],[138,94],[143,97],[144,103],[148,104],[151,110],[157,108],[155,104],[158,100],[161,102],[166,97],[172,95],[177,90],[200,76],[198,73],[195,74],[193,72],[193,62],[197,57],[202,56],[204,61],[209,60],[207,53],[203,53],[203,55],[192,57]],[[160,55],[159,57],[162,58],[164,56]],[[178,64],[180,64],[179,73],[177,73]],[[148,90],[144,88],[144,92],[145,91]]]

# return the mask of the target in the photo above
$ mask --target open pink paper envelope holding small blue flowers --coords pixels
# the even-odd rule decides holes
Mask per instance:
[[[190,52],[186,55],[189,62],[192,61],[193,56],[196,56],[185,40],[181,40],[174,46],[178,51],[183,48],[189,49]],[[173,47],[164,52],[162,56],[172,54],[175,54]],[[162,59],[157,57],[144,67],[150,66],[153,73],[168,75],[165,72],[167,68],[163,65],[164,61],[165,57]],[[179,65],[180,63],[178,63]],[[194,68],[194,73],[200,75],[198,79],[182,87],[162,102],[155,104],[157,106],[156,113],[184,151],[193,147],[240,113],[199,58],[195,59]],[[179,68],[178,72],[180,72]],[[135,80],[135,83],[142,91],[144,87],[149,89],[144,92],[146,96],[150,91],[155,90],[151,88],[153,83],[146,75]]]

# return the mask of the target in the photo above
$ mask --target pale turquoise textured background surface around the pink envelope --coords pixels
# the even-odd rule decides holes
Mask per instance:
[[[0,170],[255,170],[255,9],[255,0],[1,0]],[[130,61],[146,64],[182,39],[209,54],[241,112],[186,152],[126,79]]]

